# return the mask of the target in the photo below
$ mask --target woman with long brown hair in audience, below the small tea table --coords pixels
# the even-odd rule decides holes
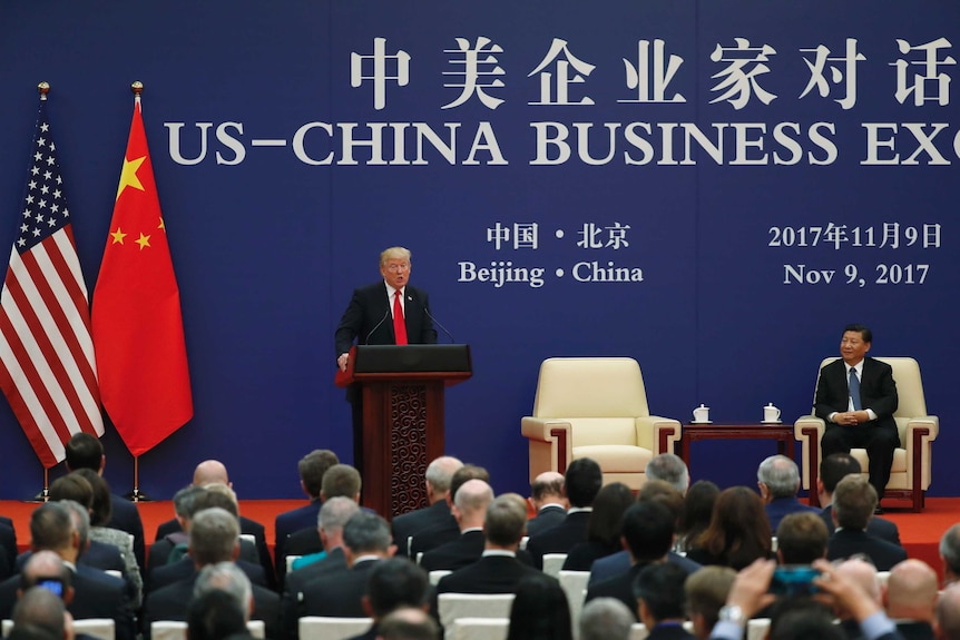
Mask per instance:
[[[757,558],[768,558],[770,549],[770,521],[760,495],[746,486],[732,486],[717,496],[711,524],[687,558],[739,571]]]

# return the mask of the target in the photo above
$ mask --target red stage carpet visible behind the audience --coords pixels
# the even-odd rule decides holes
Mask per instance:
[[[305,504],[303,500],[242,500],[241,513],[256,520],[266,526],[266,541],[273,549],[273,522],[277,513]],[[0,515],[12,518],[17,526],[17,542],[20,549],[26,549],[30,542],[30,512],[37,505],[29,502],[0,501]],[[154,534],[160,522],[174,516],[174,506],[169,501],[140,502],[140,516],[144,519],[144,532],[147,544],[154,541]],[[900,528],[900,539],[910,558],[923,560],[940,573],[940,554],[938,545],[940,535],[952,524],[960,522],[960,498],[929,498],[927,509],[922,513],[888,510],[884,518],[892,520]]]

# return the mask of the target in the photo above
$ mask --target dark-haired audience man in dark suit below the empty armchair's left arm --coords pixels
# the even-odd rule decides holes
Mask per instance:
[[[594,499],[604,484],[600,465],[589,457],[574,460],[564,474],[564,494],[570,501],[570,510],[564,521],[550,529],[531,535],[527,551],[533,558],[533,565],[543,567],[547,553],[568,553],[577,543],[587,540],[587,521]]]

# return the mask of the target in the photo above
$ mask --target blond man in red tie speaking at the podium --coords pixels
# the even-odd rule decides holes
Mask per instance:
[[[390,247],[380,254],[382,282],[354,289],[336,327],[336,364],[346,371],[350,347],[357,344],[437,344],[427,292],[409,285],[410,250]],[[360,390],[351,386],[353,465],[363,463],[363,406]]]

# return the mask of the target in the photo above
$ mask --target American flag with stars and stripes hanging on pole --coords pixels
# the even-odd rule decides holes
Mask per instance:
[[[19,235],[0,293],[0,388],[46,469],[80,431],[104,434],[87,286],[40,98]]]

